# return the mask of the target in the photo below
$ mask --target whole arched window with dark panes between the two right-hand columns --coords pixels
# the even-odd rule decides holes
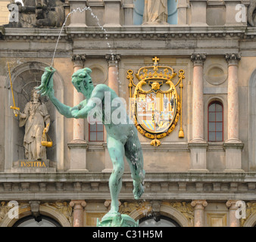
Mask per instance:
[[[223,105],[219,101],[208,106],[208,141],[223,141]]]

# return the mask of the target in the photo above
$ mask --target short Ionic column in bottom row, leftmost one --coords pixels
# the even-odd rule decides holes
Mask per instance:
[[[84,200],[71,200],[73,206],[73,227],[83,227],[83,208],[86,206]]]

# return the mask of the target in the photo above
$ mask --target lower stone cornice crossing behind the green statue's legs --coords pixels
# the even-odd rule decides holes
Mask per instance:
[[[109,199],[103,172],[1,173],[0,200]],[[130,172],[120,199],[133,199]],[[146,172],[143,199],[255,200],[256,172]],[[202,198],[203,196],[203,198]],[[88,200],[88,199],[87,199]]]

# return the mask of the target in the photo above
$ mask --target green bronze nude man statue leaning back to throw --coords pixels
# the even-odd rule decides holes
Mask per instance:
[[[94,87],[90,76],[92,70],[85,68],[73,73],[73,86],[77,92],[83,93],[86,98],[75,107],[68,107],[55,98],[52,77],[54,72],[55,69],[52,67],[45,68],[41,85],[37,88],[39,93],[41,95],[47,95],[58,112],[67,118],[85,119],[89,117],[89,120],[92,120],[96,114],[97,117],[101,117],[102,123],[105,125],[107,131],[108,152],[113,163],[113,172],[109,179],[111,209],[100,223],[102,226],[121,226],[123,223],[126,226],[130,226],[129,221],[132,218],[129,216],[125,217],[125,215],[121,216],[118,213],[118,195],[122,188],[124,156],[130,165],[135,199],[139,199],[144,192],[142,183],[144,181],[145,171],[143,169],[142,147],[137,135],[137,129],[127,115],[121,120],[114,119],[114,115],[117,113],[121,113],[121,116],[123,116],[123,113],[126,114],[123,101],[118,98],[116,92],[108,87],[108,85],[98,84]]]

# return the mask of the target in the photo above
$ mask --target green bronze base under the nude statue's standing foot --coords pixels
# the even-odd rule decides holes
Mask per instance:
[[[97,227],[139,227],[139,220],[136,222],[126,214],[107,213],[101,222],[97,219]]]

